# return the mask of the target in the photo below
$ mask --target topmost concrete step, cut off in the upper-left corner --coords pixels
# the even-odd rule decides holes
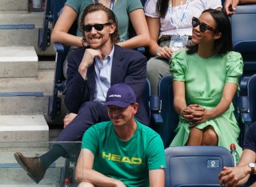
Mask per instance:
[[[0,10],[28,10],[28,0],[0,0]]]

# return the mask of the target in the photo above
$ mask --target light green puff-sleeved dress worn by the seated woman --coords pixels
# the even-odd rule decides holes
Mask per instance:
[[[201,58],[198,54],[186,54],[186,50],[180,50],[170,61],[170,73],[173,74],[174,81],[185,82],[186,105],[198,104],[206,109],[213,109],[221,101],[226,82],[238,85],[242,68],[242,56],[234,51],[226,55],[214,54],[210,58]],[[183,117],[179,117],[178,127],[175,129],[177,134],[170,146],[186,145],[190,134],[189,125]],[[218,145],[230,149],[230,144],[235,143],[241,156],[242,148],[238,145],[240,129],[234,117],[232,103],[221,116],[203,122],[196,128],[204,129],[207,125],[211,125],[218,134]]]

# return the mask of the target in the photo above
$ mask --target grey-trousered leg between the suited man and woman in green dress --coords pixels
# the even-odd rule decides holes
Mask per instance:
[[[158,82],[170,74],[169,62],[166,58],[150,58],[146,65],[146,78],[150,81],[151,95],[158,94]]]

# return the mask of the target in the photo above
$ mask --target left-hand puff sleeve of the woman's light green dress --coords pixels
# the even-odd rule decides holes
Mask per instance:
[[[178,50],[170,58],[170,74],[173,75],[173,80],[184,82],[186,70],[186,50]]]

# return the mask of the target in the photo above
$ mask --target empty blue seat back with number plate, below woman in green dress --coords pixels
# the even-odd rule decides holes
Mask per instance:
[[[219,186],[223,166],[233,167],[230,151],[221,146],[169,147],[165,186]]]

